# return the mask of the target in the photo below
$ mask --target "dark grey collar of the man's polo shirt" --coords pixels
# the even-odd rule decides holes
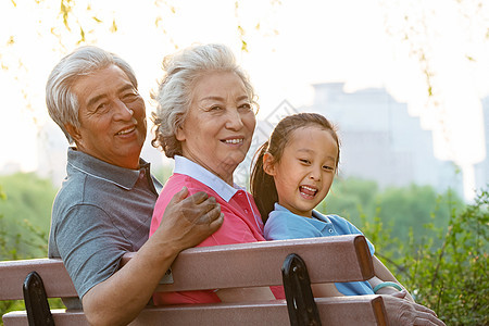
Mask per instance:
[[[150,163],[142,159],[139,159],[139,170],[130,170],[103,162],[72,147],[67,152],[67,166],[127,190],[136,185],[141,171],[150,173]]]

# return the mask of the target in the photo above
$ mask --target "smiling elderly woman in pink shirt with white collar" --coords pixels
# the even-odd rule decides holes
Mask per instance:
[[[164,61],[166,75],[159,87],[153,113],[155,139],[175,160],[174,174],[156,201],[150,235],[161,214],[183,187],[216,198],[224,214],[221,229],[199,246],[264,241],[263,223],[253,197],[234,184],[233,173],[250,148],[255,117],[253,88],[233,52],[220,45],[198,46]],[[243,294],[243,291],[248,291]],[[250,293],[249,291],[252,291]],[[284,298],[281,288],[274,288]],[[239,300],[242,296],[274,299],[268,288],[253,290],[158,293],[156,304]]]

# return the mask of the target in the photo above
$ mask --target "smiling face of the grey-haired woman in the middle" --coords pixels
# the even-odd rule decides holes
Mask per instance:
[[[247,155],[255,123],[241,78],[231,72],[210,72],[196,82],[176,138],[185,158],[233,185],[233,173]]]

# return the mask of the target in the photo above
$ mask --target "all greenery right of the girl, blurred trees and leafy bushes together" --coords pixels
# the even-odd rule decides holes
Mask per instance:
[[[489,325],[488,189],[464,205],[451,191],[380,191],[373,181],[347,179],[328,197],[319,210],[352,221],[416,302],[447,325]]]

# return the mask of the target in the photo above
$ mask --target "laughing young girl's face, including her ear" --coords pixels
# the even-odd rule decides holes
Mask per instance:
[[[331,187],[338,146],[330,131],[318,126],[293,130],[279,162],[266,153],[265,173],[275,179],[278,203],[290,212],[311,217]]]

